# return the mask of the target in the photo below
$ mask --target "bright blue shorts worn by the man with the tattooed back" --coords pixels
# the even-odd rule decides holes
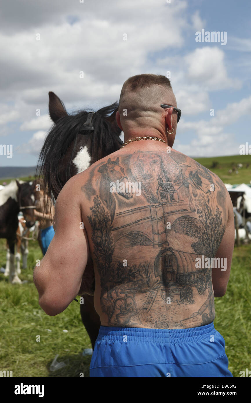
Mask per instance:
[[[211,324],[189,329],[100,326],[90,376],[230,377],[225,341]]]

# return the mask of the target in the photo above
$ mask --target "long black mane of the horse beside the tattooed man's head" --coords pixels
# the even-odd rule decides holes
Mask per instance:
[[[118,103],[114,102],[95,112],[91,122],[94,130],[86,130],[82,132],[84,134],[81,134],[84,137],[83,144],[87,145],[91,155],[91,164],[118,150],[122,145],[122,141],[119,138],[121,130],[112,124],[110,119],[110,115],[115,114],[117,108]],[[74,175],[71,172],[71,163],[79,151],[77,138],[83,129],[87,115],[88,112],[83,110],[58,119],[44,141],[39,155],[36,177],[43,179],[44,183],[46,183],[48,194],[53,195],[55,198],[64,184]],[[71,153],[68,152],[67,154],[66,169],[64,166],[65,182],[62,183],[60,180],[60,161],[66,156],[71,145],[73,147]]]

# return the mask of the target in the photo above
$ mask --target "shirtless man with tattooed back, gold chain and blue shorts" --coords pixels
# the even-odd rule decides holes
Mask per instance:
[[[230,275],[233,208],[213,172],[172,149],[180,113],[166,77],[129,78],[116,119],[125,142],[141,140],[71,178],[56,200],[34,282],[42,309],[57,315],[91,254],[102,326],[90,376],[232,376],[213,321]]]

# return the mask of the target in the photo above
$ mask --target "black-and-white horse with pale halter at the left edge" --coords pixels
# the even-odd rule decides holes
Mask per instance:
[[[17,242],[17,229],[19,226],[18,214],[21,210],[26,220],[27,228],[35,224],[35,182],[11,181],[4,189],[0,190],[0,238],[5,238],[8,243],[7,262],[5,276],[9,276],[12,284],[21,284],[20,256],[15,256],[15,244]],[[15,266],[15,258],[18,265]]]

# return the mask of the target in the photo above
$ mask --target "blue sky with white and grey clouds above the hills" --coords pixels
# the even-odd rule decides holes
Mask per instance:
[[[37,164],[48,91],[68,113],[98,110],[142,73],[170,78],[182,110],[175,150],[239,154],[251,143],[250,27],[247,0],[2,0],[0,145],[12,156],[2,151],[0,166]]]

